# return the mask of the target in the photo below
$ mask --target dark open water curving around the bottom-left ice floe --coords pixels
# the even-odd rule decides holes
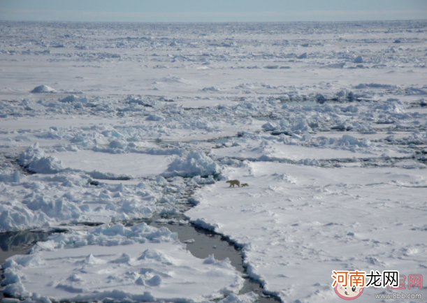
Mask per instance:
[[[157,223],[154,219],[143,221],[157,228],[166,227],[172,232],[177,232],[178,239],[180,239],[182,243],[188,239],[194,239],[194,243],[187,244],[187,249],[196,258],[208,258],[211,254],[214,254],[217,260],[229,258],[231,265],[236,267],[239,272],[242,272],[245,277],[245,285],[240,290],[240,294],[253,291],[259,295],[260,303],[278,302],[278,300],[275,300],[273,297],[263,295],[259,282],[247,277],[245,274],[245,267],[243,267],[243,258],[240,253],[240,248],[227,241],[222,235],[192,225],[180,226],[176,224]],[[139,222],[141,221],[131,221],[125,223],[125,225],[132,226]],[[0,265],[10,256],[26,254],[36,242],[44,241],[49,235],[50,234],[46,232],[31,231],[0,233]],[[2,271],[0,270],[0,275],[1,274]],[[1,279],[3,279],[2,275]],[[0,291],[0,299],[1,298],[3,298],[3,293]]]

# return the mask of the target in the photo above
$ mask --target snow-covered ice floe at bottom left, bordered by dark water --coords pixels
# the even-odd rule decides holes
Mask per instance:
[[[123,251],[126,251],[124,253]],[[229,260],[195,258],[167,228],[140,223],[68,232],[38,242],[2,265],[6,295],[48,300],[202,302],[238,293],[243,279]],[[256,295],[227,298],[254,302]]]

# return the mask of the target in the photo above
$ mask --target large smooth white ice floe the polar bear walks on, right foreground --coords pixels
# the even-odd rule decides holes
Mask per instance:
[[[242,246],[249,276],[283,302],[341,302],[333,270],[425,272],[424,170],[244,161],[223,174],[249,186],[205,186],[186,215]]]

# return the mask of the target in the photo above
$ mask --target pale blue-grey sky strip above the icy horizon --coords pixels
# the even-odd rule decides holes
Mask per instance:
[[[289,22],[426,19],[427,0],[0,0],[0,20]]]

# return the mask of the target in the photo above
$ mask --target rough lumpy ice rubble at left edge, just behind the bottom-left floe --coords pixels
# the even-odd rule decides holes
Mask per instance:
[[[0,184],[0,232],[150,218],[156,210],[168,208],[167,202],[155,204],[163,190],[157,182],[130,188],[102,184],[93,189],[92,178],[84,174],[18,176],[19,182],[15,173],[9,176]],[[173,194],[167,197],[175,200]]]

